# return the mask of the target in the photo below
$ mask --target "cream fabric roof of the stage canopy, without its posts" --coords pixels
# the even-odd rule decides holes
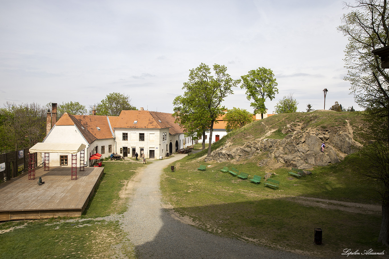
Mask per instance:
[[[37,143],[30,148],[30,152],[76,154],[84,148],[85,144],[80,143]]]

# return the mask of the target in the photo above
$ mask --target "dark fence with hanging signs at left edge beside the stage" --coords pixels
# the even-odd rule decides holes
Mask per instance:
[[[9,181],[14,177],[28,171],[28,154],[30,148],[12,151],[0,155],[0,183]],[[35,157],[35,167],[38,165],[37,155]]]

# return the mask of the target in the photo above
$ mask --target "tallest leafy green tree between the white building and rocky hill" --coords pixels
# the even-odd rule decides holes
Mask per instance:
[[[175,98],[173,104],[178,120],[189,116],[189,120],[185,119],[185,127],[193,129],[196,126],[202,125],[202,120],[207,122],[204,128],[209,129],[209,145],[208,156],[211,154],[212,132],[216,118],[223,115],[225,108],[221,106],[221,102],[228,94],[233,94],[232,87],[236,87],[240,80],[233,80],[227,74],[226,66],[214,64],[214,75],[211,75],[211,69],[206,64],[201,63],[197,68],[189,70],[189,80],[184,83],[185,93],[183,96]],[[187,113],[196,113],[198,115]],[[192,125],[190,125],[192,123]],[[203,131],[203,145],[205,144],[205,131]]]

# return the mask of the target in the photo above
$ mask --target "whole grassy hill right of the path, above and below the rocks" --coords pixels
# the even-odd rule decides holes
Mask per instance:
[[[356,113],[314,111],[274,115],[231,132],[212,150],[244,146],[264,138],[283,139],[284,129],[306,132],[339,132],[361,139],[364,122]],[[342,257],[345,248],[382,252],[376,242],[381,216],[380,183],[365,179],[350,169],[352,154],[336,164],[313,167],[312,174],[295,178],[290,167],[259,166],[267,157],[262,152],[248,159],[204,162],[206,150],[186,156],[165,169],[161,190],[165,200],[197,228],[314,257]],[[197,168],[206,165],[205,171]],[[275,163],[274,163],[275,165]],[[234,167],[241,172],[264,176],[275,173],[279,189],[238,179],[220,169]],[[322,228],[323,245],[315,245],[314,229]],[[349,256],[350,258],[351,256]],[[352,257],[351,257],[352,258]],[[379,257],[375,257],[379,258]]]

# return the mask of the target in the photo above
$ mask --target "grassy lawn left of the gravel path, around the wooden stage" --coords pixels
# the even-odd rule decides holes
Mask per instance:
[[[81,219],[41,219],[0,223],[0,258],[135,258],[134,247],[114,221],[127,200],[119,193],[141,163],[103,162],[104,174]]]

